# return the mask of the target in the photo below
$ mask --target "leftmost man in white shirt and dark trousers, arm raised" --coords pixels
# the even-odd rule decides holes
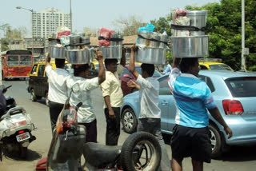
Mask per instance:
[[[55,59],[56,70],[50,65],[50,55],[46,54],[46,75],[49,80],[48,99],[50,109],[50,123],[52,132],[67,99],[66,77],[68,72],[64,70],[65,59]]]

